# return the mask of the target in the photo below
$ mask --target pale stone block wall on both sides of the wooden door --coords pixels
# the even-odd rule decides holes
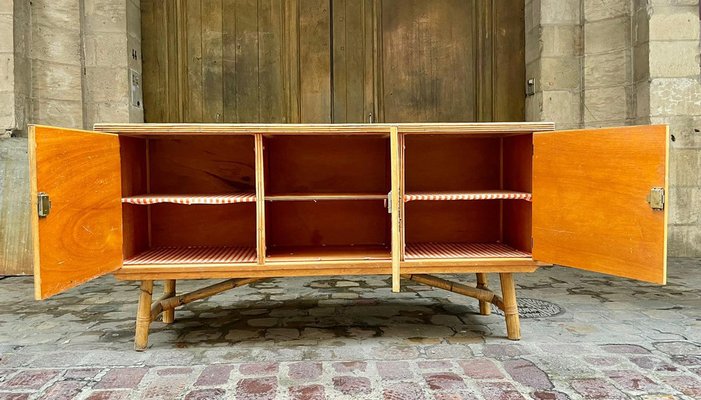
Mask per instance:
[[[701,256],[699,0],[525,1],[526,119],[669,124],[669,253]],[[0,272],[31,272],[26,124],[143,121],[130,69],[141,72],[139,0],[0,2]]]

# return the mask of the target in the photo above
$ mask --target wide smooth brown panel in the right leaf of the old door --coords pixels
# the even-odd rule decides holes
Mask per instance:
[[[384,122],[475,121],[473,2],[383,0]]]

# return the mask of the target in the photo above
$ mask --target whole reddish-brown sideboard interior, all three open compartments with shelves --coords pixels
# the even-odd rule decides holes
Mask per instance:
[[[391,259],[388,135],[261,138],[120,136],[124,264]],[[403,259],[530,257],[531,134],[400,143]]]

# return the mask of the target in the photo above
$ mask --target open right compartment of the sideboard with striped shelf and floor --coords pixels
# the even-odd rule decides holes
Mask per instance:
[[[404,259],[530,257],[532,135],[406,135]]]

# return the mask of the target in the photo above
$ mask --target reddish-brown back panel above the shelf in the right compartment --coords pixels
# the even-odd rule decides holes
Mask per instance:
[[[500,187],[500,139],[405,136],[407,192],[496,190]]]

